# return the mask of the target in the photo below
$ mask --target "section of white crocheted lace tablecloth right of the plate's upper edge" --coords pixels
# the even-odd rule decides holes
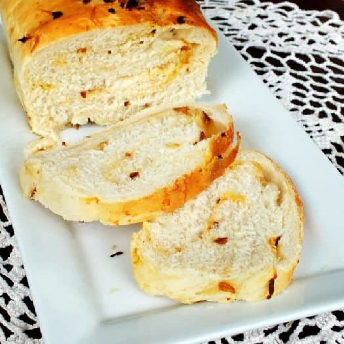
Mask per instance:
[[[290,2],[201,3],[343,174],[344,25],[338,15],[302,11]]]

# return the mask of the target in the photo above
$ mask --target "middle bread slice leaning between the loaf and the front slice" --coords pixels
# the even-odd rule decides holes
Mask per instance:
[[[222,175],[238,151],[233,136],[225,106],[165,109],[30,155],[21,186],[67,220],[140,222],[182,206]]]

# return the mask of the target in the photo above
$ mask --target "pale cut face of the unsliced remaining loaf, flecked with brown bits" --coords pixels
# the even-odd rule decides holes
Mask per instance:
[[[154,32],[154,33],[153,33]],[[31,57],[17,89],[32,130],[109,125],[205,94],[216,40],[204,28],[147,24],[95,29]]]

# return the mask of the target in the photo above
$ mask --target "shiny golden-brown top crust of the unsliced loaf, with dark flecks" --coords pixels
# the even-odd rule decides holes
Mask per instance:
[[[138,23],[196,26],[216,39],[194,0],[0,0],[0,11],[11,50],[25,55],[73,34]]]

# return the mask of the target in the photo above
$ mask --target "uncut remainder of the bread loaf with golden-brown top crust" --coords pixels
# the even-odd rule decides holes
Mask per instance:
[[[0,0],[33,132],[194,100],[217,49],[194,0]]]

